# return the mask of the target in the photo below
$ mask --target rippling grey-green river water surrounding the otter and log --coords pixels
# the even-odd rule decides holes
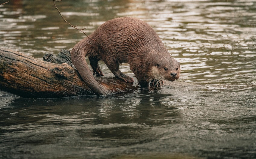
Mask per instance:
[[[101,98],[0,91],[0,158],[256,158],[256,1],[56,4],[88,35],[115,17],[144,20],[180,61],[180,79]],[[42,59],[84,37],[50,0],[0,5],[0,47]],[[132,73],[128,64],[121,71]]]

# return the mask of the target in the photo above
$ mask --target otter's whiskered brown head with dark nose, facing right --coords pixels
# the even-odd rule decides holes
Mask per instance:
[[[162,56],[152,66],[150,78],[174,81],[180,77],[180,63],[170,55]]]

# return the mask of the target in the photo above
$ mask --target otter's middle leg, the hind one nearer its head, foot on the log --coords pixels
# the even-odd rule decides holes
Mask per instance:
[[[111,64],[109,63],[106,63],[105,64],[108,66],[108,68],[111,70],[111,72],[119,79],[123,80],[124,82],[127,82],[127,83],[133,83],[133,78],[132,77],[129,77],[129,76],[126,76],[125,74],[123,74],[120,70],[119,70],[119,64],[117,64],[117,62],[112,62]]]

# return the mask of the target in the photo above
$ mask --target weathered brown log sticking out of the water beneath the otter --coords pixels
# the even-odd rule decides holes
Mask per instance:
[[[24,98],[62,98],[95,95],[74,69],[69,51],[46,54],[46,61],[0,48],[0,90]],[[54,61],[55,59],[55,61]],[[54,61],[50,63],[47,61]],[[137,89],[115,77],[96,77],[108,95]]]

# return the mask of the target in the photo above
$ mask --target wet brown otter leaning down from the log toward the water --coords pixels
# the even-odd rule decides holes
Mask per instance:
[[[93,73],[85,56],[89,58]],[[82,39],[73,47],[71,59],[96,95],[105,95],[93,76],[104,75],[98,65],[99,60],[104,61],[117,78],[133,83],[133,78],[119,70],[120,64],[130,64],[143,90],[151,89],[149,82],[161,86],[164,79],[174,81],[180,77],[180,63],[170,56],[154,29],[132,17],[115,18],[103,23],[89,38]]]

